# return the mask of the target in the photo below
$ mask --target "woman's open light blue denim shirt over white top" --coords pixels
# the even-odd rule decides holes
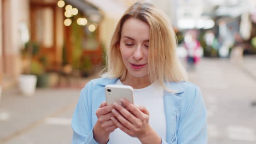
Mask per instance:
[[[104,87],[117,79],[91,80],[82,89],[72,118],[73,144],[92,144],[92,128],[97,122],[96,110],[106,101]],[[169,82],[175,93],[164,92],[166,141],[171,144],[207,143],[207,115],[199,87],[190,82]]]

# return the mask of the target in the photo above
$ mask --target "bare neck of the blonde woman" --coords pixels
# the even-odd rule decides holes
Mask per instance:
[[[142,77],[135,77],[127,74],[124,80],[121,80],[124,85],[131,86],[134,89],[144,88],[151,85],[148,75]]]

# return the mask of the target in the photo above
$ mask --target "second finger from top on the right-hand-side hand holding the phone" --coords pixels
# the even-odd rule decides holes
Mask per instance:
[[[114,103],[115,109],[117,109],[123,117],[125,117],[129,122],[136,123],[136,117],[132,115],[131,112],[127,111],[126,108],[121,106],[120,104]],[[112,110],[113,111],[113,110]]]

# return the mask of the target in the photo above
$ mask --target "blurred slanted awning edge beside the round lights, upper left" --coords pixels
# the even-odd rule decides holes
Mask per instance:
[[[94,5],[83,1],[83,0],[65,0],[68,4],[71,4],[73,7],[82,11],[85,15],[87,15],[90,21],[99,22],[102,20],[103,15],[100,10],[98,10]]]

